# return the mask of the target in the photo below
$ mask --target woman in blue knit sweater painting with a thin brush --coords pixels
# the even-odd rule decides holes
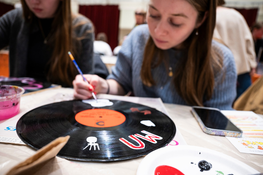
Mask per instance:
[[[232,109],[236,68],[231,51],[212,41],[216,0],[150,0],[147,24],[125,39],[107,80],[85,75],[74,96],[91,92],[160,97],[165,103]]]

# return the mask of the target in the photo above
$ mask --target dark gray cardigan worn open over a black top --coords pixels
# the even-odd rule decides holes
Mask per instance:
[[[79,58],[75,58],[80,69],[85,74],[94,73],[93,41],[94,34],[86,33],[92,29],[92,23],[84,16],[73,20],[73,25],[79,21],[86,23],[75,29],[77,37],[85,36],[81,40],[82,51]],[[9,70],[11,77],[26,77],[29,31],[39,30],[36,24],[29,24],[23,18],[21,8],[14,9],[0,18],[0,49],[9,45]]]

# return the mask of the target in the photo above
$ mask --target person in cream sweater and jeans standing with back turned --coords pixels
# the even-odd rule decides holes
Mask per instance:
[[[257,62],[254,41],[249,26],[241,13],[222,7],[216,9],[216,26],[213,37],[225,44],[233,53],[237,69],[237,97],[250,85],[250,75],[255,73]]]

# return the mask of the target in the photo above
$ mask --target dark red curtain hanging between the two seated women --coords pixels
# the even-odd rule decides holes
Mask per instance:
[[[89,18],[95,27],[95,36],[97,33],[107,34],[108,43],[112,50],[118,46],[119,16],[118,6],[79,6],[79,13]]]

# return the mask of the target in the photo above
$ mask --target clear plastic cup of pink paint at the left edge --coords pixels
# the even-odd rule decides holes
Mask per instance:
[[[22,87],[0,85],[0,120],[14,117],[20,111],[20,97],[25,92]]]

